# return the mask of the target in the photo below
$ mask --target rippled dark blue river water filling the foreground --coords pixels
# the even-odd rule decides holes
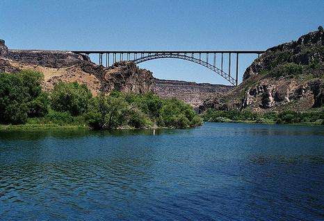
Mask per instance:
[[[324,127],[0,132],[0,220],[324,220]]]

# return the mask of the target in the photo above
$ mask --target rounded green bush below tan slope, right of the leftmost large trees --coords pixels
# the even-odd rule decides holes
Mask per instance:
[[[86,85],[58,82],[51,92],[51,107],[58,112],[70,112],[77,116],[87,111],[90,98],[92,95]]]

